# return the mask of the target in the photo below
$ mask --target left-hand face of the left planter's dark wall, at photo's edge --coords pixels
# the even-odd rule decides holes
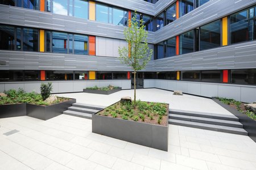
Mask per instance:
[[[5,104],[0,105],[0,118],[26,116],[26,104]]]

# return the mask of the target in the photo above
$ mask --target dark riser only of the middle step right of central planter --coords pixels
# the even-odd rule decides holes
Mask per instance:
[[[175,116],[169,116],[171,119],[175,120],[184,120],[184,121],[191,121],[191,122],[199,122],[203,124],[212,124],[212,125],[221,125],[221,126],[229,126],[234,128],[243,128],[243,125],[234,125],[234,124],[227,124],[222,122],[213,122],[213,121],[205,121],[205,120],[196,120],[191,118],[184,118],[184,117],[175,117]],[[216,119],[217,120],[217,119]]]

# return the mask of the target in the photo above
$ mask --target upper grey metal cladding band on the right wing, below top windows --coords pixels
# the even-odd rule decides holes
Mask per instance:
[[[191,29],[256,4],[255,0],[214,0],[205,3],[155,32],[155,43],[170,39]]]

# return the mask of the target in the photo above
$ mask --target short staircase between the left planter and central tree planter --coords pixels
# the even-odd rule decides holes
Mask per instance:
[[[69,107],[67,111],[63,112],[63,114],[92,119],[93,113],[96,113],[104,108],[105,107],[100,105],[74,103],[72,104],[72,107]]]

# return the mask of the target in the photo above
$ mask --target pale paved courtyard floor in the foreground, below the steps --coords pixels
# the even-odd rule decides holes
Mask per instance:
[[[92,121],[0,119],[0,169],[256,169],[249,137],[170,125],[169,151],[92,133]],[[10,130],[11,135],[3,135]]]

